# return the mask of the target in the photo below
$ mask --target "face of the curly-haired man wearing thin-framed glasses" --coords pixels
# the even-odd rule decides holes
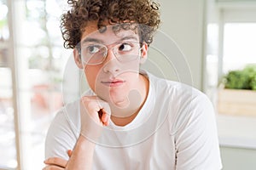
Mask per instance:
[[[139,65],[141,57],[147,57],[145,46],[139,44],[138,34],[132,30],[114,32],[108,26],[100,32],[96,23],[85,27],[80,57],[87,82],[98,97],[124,107],[130,92],[139,91]]]

